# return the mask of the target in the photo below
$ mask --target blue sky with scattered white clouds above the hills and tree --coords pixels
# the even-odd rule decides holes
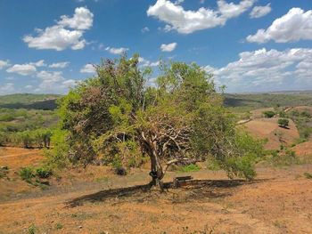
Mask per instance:
[[[0,0],[0,95],[67,93],[101,59],[196,62],[227,93],[312,90],[311,0]]]

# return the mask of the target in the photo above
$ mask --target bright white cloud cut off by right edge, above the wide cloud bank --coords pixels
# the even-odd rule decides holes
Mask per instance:
[[[267,29],[259,29],[255,35],[247,36],[251,43],[297,42],[312,40],[312,10],[304,12],[300,8],[292,8],[281,18],[276,19]]]

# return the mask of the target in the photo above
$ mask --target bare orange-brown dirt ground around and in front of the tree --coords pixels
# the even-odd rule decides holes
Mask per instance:
[[[221,171],[202,169],[186,174],[209,180],[206,185],[111,193],[145,184],[148,171],[119,177],[101,166],[76,169],[59,174],[48,190],[14,173],[42,159],[36,150],[2,149],[0,165],[9,166],[11,180],[0,179],[0,233],[312,232],[312,180],[306,176],[312,165],[259,167],[254,182],[231,182]],[[184,174],[168,173],[166,180]]]

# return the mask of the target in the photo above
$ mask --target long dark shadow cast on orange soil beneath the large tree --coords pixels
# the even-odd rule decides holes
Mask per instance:
[[[164,188],[167,192],[164,192],[163,194],[160,194],[159,190],[151,190],[152,188],[150,184],[144,184],[120,189],[101,190],[93,194],[71,199],[70,201],[67,201],[65,205],[66,207],[83,206],[86,202],[103,202],[111,198],[135,198],[136,201],[142,202],[146,199],[153,199],[152,192],[154,192],[154,195],[157,196],[157,198],[166,198],[168,195],[173,195],[173,202],[178,200],[174,197],[179,193],[183,194],[183,191],[188,192],[185,195],[185,199],[183,199],[184,201],[202,198],[225,198],[232,194],[229,191],[235,187],[262,181],[263,180],[255,180],[252,182],[247,182],[245,180],[193,180],[182,182],[178,188],[174,188],[173,182],[165,182]],[[170,192],[168,193],[169,189]],[[177,192],[174,192],[176,190]]]

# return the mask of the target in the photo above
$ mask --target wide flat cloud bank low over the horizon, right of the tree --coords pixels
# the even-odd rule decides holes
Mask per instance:
[[[213,73],[218,85],[228,85],[230,91],[268,91],[287,89],[302,84],[310,85],[312,76],[312,49],[294,48],[285,51],[261,49],[241,52],[238,61],[230,62],[224,68],[205,67]],[[289,89],[288,88],[288,89]]]

